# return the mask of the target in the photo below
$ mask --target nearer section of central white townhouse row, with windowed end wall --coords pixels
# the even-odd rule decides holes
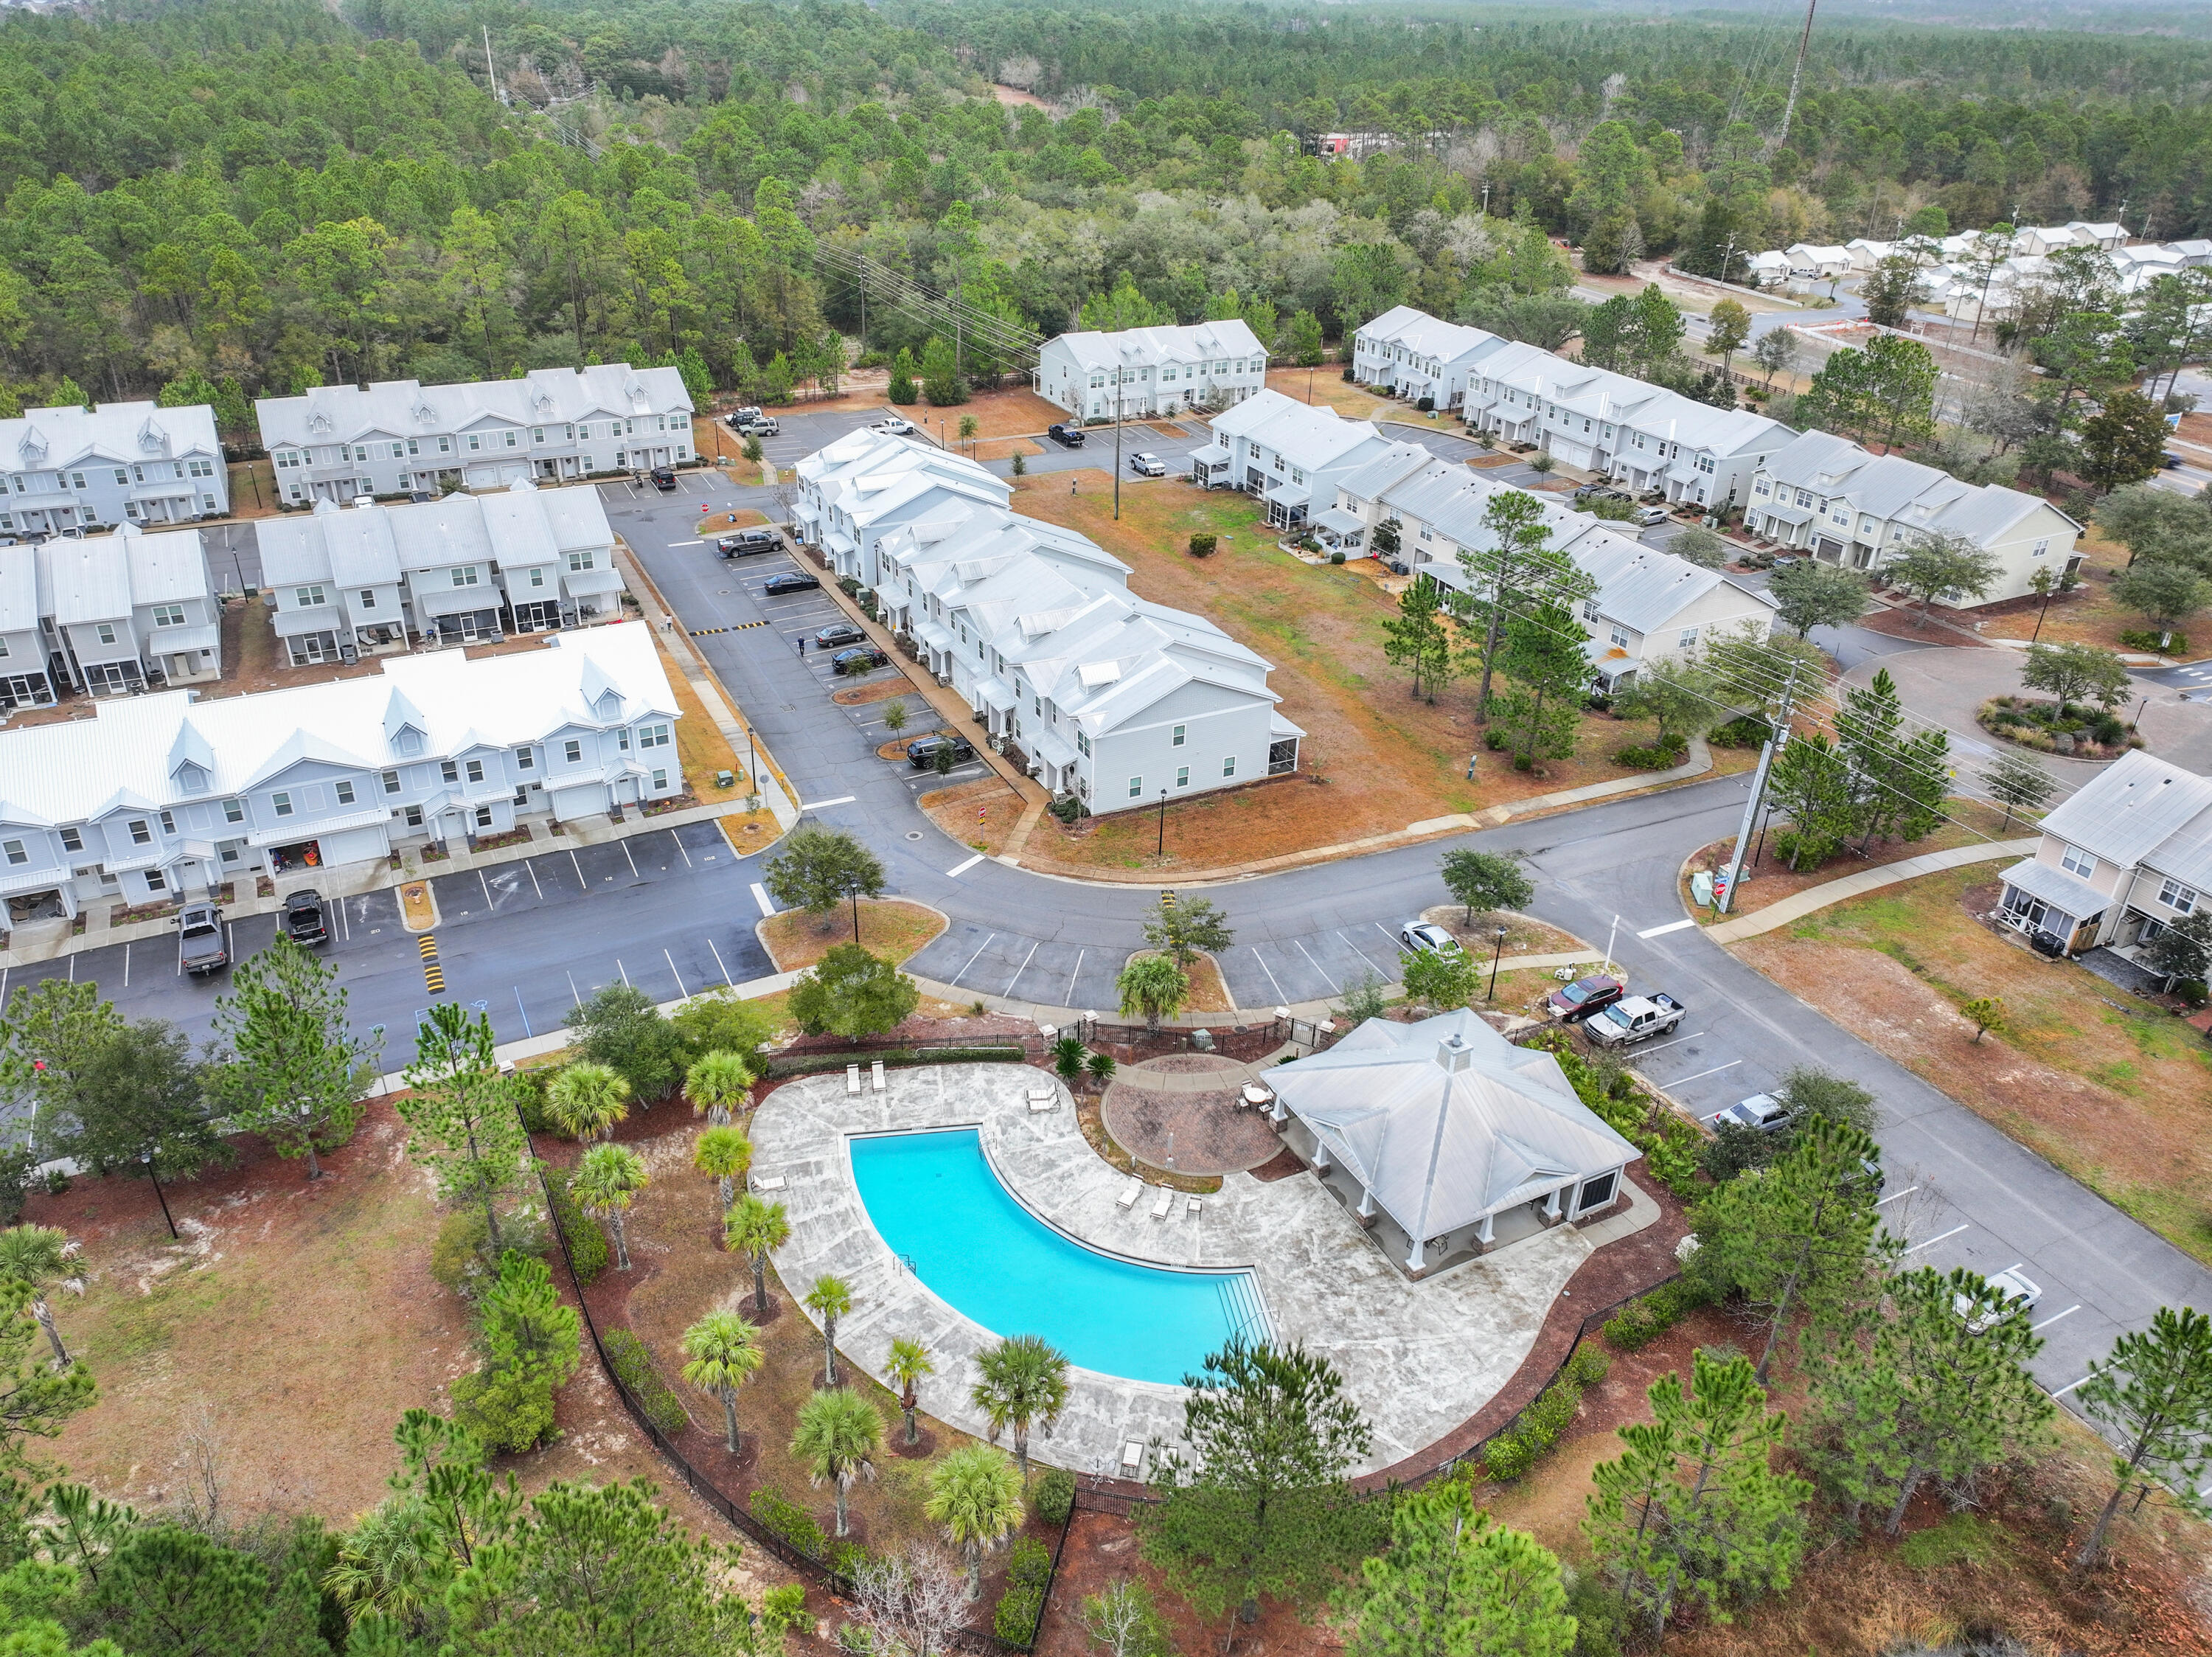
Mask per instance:
[[[1270,664],[1086,535],[942,500],[880,549],[885,619],[1053,794],[1104,816],[1298,768]]]

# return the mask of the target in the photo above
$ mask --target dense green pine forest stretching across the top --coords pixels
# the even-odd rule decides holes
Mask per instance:
[[[1234,310],[1287,341],[1398,301],[1495,325],[1566,285],[1551,239],[1710,270],[1900,226],[2212,230],[2197,40],[1847,18],[1814,31],[1781,142],[1790,7],[1325,11],[9,13],[0,407],[173,387],[246,440],[252,396],[325,381],[688,358],[734,385],[779,354],[803,376],[863,334],[856,254],[1009,332],[1121,290],[1119,314]],[[1329,131],[1389,148],[1310,153]],[[860,350],[925,336],[876,303]]]

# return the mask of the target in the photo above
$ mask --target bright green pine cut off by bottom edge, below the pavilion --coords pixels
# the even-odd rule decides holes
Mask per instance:
[[[1360,1564],[1338,1608],[1349,1619],[1349,1657],[1575,1650],[1559,1557],[1526,1531],[1493,1524],[1455,1480],[1391,1504],[1389,1549]]]

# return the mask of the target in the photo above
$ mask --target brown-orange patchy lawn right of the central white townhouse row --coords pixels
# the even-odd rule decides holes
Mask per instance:
[[[1155,854],[1155,810],[1086,819],[1073,832],[1046,816],[1024,863],[1175,872],[1336,845],[1624,777],[1613,750],[1650,737],[1648,723],[1590,715],[1577,757],[1548,763],[1546,777],[1517,774],[1484,750],[1469,783],[1467,757],[1482,741],[1475,684],[1455,681],[1436,704],[1409,697],[1407,677],[1383,659],[1396,604],[1349,566],[1279,551],[1250,496],[1146,482],[1121,491],[1115,522],[1110,482],[1095,471],[1022,478],[1015,491],[1020,511],[1079,529],[1124,560],[1135,593],[1197,611],[1272,661],[1283,715],[1307,732],[1298,777],[1170,803],[1166,858]],[[1219,551],[1190,557],[1192,533],[1221,535]]]

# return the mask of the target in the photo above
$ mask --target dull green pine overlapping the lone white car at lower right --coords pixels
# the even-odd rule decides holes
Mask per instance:
[[[1891,1279],[1871,1343],[1840,1341],[1814,1383],[1820,1469],[1851,1518],[1865,1502],[1887,1507],[1896,1535],[1924,1480],[1971,1489],[2031,1449],[2055,1414],[2026,1367],[2042,1345],[1978,1272]]]

